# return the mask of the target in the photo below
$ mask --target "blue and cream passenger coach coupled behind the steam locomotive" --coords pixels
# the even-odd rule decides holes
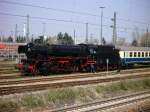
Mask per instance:
[[[122,66],[150,64],[150,47],[119,47]]]

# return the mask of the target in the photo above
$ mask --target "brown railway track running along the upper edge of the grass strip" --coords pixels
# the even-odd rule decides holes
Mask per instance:
[[[101,76],[101,77],[89,77],[89,78],[77,78],[77,79],[63,79],[52,80],[51,78],[48,80],[45,78],[38,79],[38,82],[31,83],[24,81],[23,83],[18,84],[8,84],[8,85],[0,85],[0,95],[9,95],[14,93],[22,93],[27,91],[38,91],[45,90],[49,88],[62,88],[62,87],[71,87],[71,86],[79,86],[79,85],[87,85],[87,84],[95,84],[95,83],[104,83],[111,81],[120,81],[125,79],[135,79],[135,78],[145,78],[149,77],[150,72],[140,73],[140,74],[132,74],[132,75],[117,75],[117,76]]]

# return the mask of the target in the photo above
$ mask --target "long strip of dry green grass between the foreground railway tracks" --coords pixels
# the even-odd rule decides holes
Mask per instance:
[[[94,101],[100,97],[111,97],[126,92],[150,89],[150,79],[120,81],[107,85],[51,89],[42,93],[23,95],[9,101],[0,101],[0,112],[15,112],[18,108],[34,109],[37,107],[60,107],[76,103]],[[6,100],[5,100],[6,99]],[[17,102],[17,103],[16,103]]]

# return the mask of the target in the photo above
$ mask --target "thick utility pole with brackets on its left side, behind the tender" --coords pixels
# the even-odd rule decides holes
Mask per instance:
[[[117,30],[116,30],[116,12],[114,12],[114,18],[111,19],[113,21],[113,25],[111,26],[113,28],[113,45],[116,45],[117,42]]]

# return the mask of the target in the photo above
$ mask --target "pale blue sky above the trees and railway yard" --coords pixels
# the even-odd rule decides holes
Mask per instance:
[[[131,41],[135,29],[142,34],[146,28],[150,28],[150,0],[0,0],[0,35],[14,36],[16,24],[18,35],[23,35],[23,24],[29,15],[30,36],[42,35],[45,23],[45,35],[55,36],[59,32],[67,32],[73,36],[75,30],[76,43],[81,43],[85,41],[85,23],[88,23],[88,37],[99,40],[101,6],[105,7],[103,37],[108,42],[112,40],[110,26],[113,24],[111,18],[114,12],[117,13],[118,38]]]

